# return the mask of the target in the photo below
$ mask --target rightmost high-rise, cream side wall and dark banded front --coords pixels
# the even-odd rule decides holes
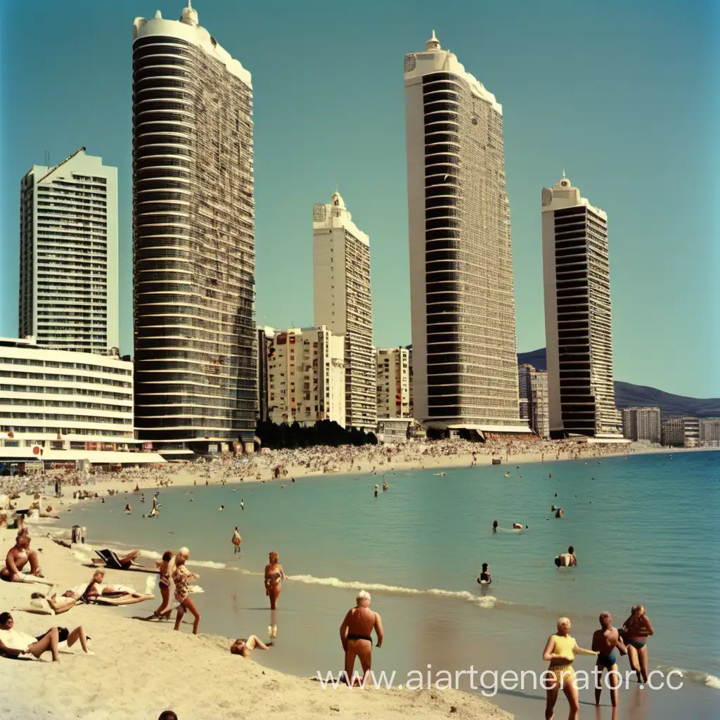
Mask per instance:
[[[542,191],[550,434],[618,438],[608,215],[562,178]]]

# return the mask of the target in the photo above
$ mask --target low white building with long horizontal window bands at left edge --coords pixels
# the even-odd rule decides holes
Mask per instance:
[[[138,449],[132,362],[0,338],[0,461],[163,462]]]

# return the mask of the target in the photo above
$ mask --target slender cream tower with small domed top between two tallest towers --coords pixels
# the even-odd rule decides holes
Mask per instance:
[[[345,426],[374,431],[377,421],[372,346],[370,240],[338,192],[312,206],[315,325],[345,338]]]

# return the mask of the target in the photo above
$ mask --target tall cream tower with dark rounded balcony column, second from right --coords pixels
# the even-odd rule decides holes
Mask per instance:
[[[405,55],[415,418],[444,433],[529,433],[518,365],[503,112],[442,50]]]

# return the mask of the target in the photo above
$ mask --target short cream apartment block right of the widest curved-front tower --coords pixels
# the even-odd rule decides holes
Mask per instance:
[[[269,346],[269,419],[278,425],[333,420],[344,426],[345,338],[325,325],[264,330]]]

